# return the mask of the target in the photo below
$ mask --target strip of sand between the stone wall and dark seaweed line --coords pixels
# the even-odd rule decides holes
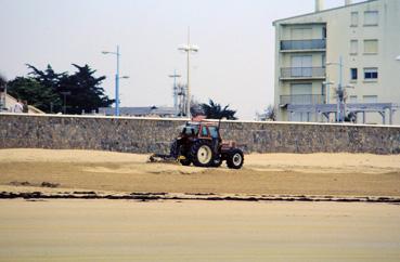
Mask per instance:
[[[253,154],[242,170],[147,163],[149,155],[0,149],[0,191],[400,196],[400,155]],[[29,187],[14,186],[28,182]]]

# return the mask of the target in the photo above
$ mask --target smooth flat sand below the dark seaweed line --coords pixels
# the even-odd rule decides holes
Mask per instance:
[[[0,200],[0,261],[399,261],[385,204]]]

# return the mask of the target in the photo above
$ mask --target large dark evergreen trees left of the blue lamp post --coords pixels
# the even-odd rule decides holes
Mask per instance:
[[[53,113],[63,112],[63,93],[68,93],[67,114],[98,110],[99,107],[107,107],[114,103],[101,87],[105,77],[94,77],[95,70],[88,65],[73,64],[77,69],[73,75],[55,73],[50,65],[44,70],[33,65],[27,66],[31,69],[29,77],[17,77],[10,81],[9,92],[15,97],[27,100],[28,104],[46,113],[51,113],[51,109]]]

